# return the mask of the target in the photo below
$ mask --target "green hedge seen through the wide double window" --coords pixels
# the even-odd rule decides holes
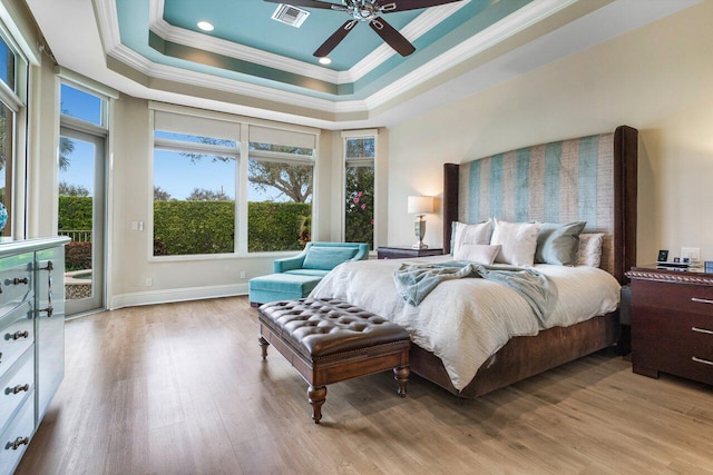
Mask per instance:
[[[248,251],[302,249],[299,225],[311,211],[311,204],[248,202]],[[155,201],[154,255],[232,253],[234,221],[233,201]]]

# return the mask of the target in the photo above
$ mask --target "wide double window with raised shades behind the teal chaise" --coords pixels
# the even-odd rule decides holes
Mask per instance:
[[[312,229],[312,129],[153,107],[154,256],[304,247]]]

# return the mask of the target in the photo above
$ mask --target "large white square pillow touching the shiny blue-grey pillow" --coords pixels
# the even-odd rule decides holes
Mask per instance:
[[[508,222],[495,219],[490,245],[502,246],[495,261],[512,266],[535,264],[537,235],[539,235],[541,226],[538,222]]]

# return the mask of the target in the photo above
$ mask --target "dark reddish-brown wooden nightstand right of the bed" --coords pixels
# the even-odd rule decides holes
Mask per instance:
[[[713,275],[635,267],[627,276],[634,373],[713,384]]]

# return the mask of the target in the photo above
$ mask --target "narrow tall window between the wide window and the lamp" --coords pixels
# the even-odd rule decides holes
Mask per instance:
[[[352,132],[353,133],[353,132]],[[377,137],[344,138],[344,241],[374,248]]]

